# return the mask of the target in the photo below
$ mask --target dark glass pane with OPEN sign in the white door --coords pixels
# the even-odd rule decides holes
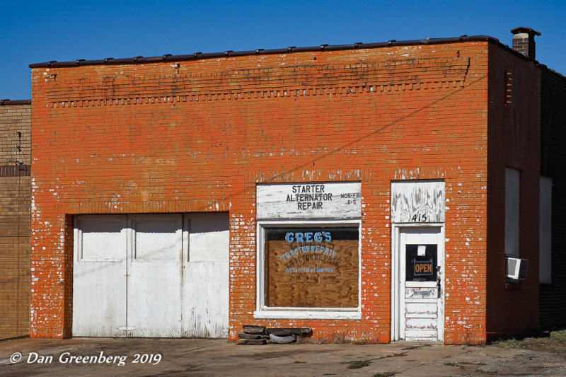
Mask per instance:
[[[406,245],[405,281],[437,281],[437,245]]]

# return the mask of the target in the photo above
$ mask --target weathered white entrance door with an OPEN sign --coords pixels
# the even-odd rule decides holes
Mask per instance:
[[[439,227],[401,228],[401,340],[444,340],[444,240]]]

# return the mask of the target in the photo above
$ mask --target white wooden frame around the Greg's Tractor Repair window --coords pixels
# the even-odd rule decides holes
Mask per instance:
[[[328,227],[357,226],[358,228],[358,306],[355,308],[296,308],[265,305],[265,229],[280,227]],[[258,221],[256,229],[256,309],[255,319],[362,319],[362,221],[354,220],[286,220]]]

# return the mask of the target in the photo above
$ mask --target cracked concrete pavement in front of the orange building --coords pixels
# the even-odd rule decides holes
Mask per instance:
[[[157,355],[161,355],[157,356]],[[74,356],[74,357],[73,357]],[[350,361],[369,361],[348,369]],[[0,342],[1,376],[566,376],[550,352],[441,344],[267,344],[72,338]]]

